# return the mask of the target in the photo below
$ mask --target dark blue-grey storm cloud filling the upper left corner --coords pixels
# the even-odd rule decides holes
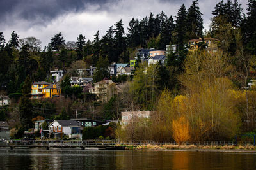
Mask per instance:
[[[79,12],[86,9],[86,5],[99,5],[111,0],[2,0],[0,1],[0,20],[12,22],[12,19],[41,20],[47,22],[58,15]],[[10,20],[9,20],[10,19]]]

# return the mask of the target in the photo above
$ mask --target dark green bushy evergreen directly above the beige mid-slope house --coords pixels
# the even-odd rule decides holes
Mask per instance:
[[[109,78],[108,66],[108,58],[103,59],[103,57],[100,56],[96,66],[96,73],[93,75],[93,82],[96,83],[104,78]]]

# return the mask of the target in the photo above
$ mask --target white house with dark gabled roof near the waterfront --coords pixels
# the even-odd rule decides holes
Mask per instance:
[[[80,125],[76,120],[54,120],[49,124],[49,134],[54,134],[55,137],[80,138],[81,133],[79,131]]]

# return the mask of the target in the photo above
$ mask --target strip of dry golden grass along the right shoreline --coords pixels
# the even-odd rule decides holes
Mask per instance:
[[[189,150],[189,149],[205,149],[205,150],[256,150],[253,145],[140,145],[126,146],[127,150]]]

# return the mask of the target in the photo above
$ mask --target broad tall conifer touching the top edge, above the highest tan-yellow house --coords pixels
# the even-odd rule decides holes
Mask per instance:
[[[193,1],[188,9],[188,15],[186,17],[186,36],[188,39],[196,39],[203,35],[203,19],[202,13],[197,6],[198,0]]]

